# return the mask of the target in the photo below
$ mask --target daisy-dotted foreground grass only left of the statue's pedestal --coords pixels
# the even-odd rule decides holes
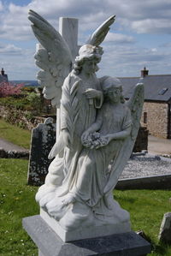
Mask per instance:
[[[27,186],[27,160],[0,159],[0,255],[37,255],[37,247],[22,229],[22,218],[38,214]]]

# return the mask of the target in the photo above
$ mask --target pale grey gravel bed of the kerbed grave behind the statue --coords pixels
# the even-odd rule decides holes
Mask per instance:
[[[127,162],[120,179],[171,175],[171,158],[162,158],[155,155],[146,154],[136,156]]]

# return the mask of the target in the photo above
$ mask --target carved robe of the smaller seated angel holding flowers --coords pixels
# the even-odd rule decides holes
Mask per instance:
[[[115,134],[132,125],[130,110],[125,104],[115,108],[113,104],[105,103],[98,110],[97,122],[102,120],[100,134]],[[111,140],[107,146],[99,149],[84,149],[80,152],[80,158],[70,192],[78,199],[91,206],[96,217],[100,215],[113,215],[110,211],[111,196],[104,194],[103,189],[110,178],[109,164],[115,162],[120,153],[123,140]]]

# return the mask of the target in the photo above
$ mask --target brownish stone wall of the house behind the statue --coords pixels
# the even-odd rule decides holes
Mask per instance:
[[[167,139],[168,104],[144,102],[141,123],[149,130],[149,134]]]

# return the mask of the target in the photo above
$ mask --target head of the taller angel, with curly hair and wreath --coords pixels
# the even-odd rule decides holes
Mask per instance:
[[[82,70],[84,70],[87,74],[97,72],[97,63],[101,61],[102,55],[102,47],[83,45],[80,47],[79,56],[75,58],[74,72],[76,74],[80,74]]]

